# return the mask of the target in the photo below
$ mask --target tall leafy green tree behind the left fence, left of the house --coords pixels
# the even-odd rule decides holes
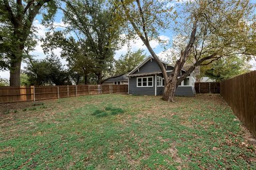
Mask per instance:
[[[66,58],[76,83],[84,78],[85,83],[93,75],[98,84],[111,71],[114,51],[118,48],[119,27],[114,24],[116,7],[107,1],[65,1],[61,8],[63,31],[49,33],[44,39],[45,53],[50,48],[61,48],[61,57]],[[67,33],[75,37],[66,38]]]

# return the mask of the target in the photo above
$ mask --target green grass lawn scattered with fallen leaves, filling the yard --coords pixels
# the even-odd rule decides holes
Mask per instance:
[[[219,95],[175,101],[107,94],[0,105],[0,169],[256,169],[255,142]]]

